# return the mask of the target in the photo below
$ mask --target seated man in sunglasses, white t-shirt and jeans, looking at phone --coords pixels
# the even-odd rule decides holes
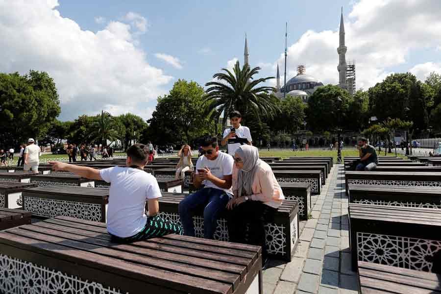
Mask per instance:
[[[199,188],[203,184],[205,187],[181,200],[179,217],[184,235],[195,236],[193,216],[196,209],[203,207],[204,238],[213,239],[221,212],[233,195],[231,183],[234,159],[219,151],[216,138],[205,137],[201,147],[202,156],[196,162],[193,185]]]

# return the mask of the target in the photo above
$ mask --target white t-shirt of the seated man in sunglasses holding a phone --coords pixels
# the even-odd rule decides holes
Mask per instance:
[[[211,173],[217,178],[223,178],[224,175],[232,175],[233,174],[233,163],[234,159],[230,155],[220,152],[215,160],[208,160],[205,155],[202,155],[197,159],[196,162],[196,174],[199,173],[197,170],[201,170],[205,167],[209,168]],[[233,195],[233,191],[231,187],[229,189],[222,189],[213,184],[211,181],[203,180],[202,182],[205,185],[205,188],[215,188],[219,190],[225,191],[229,195]]]

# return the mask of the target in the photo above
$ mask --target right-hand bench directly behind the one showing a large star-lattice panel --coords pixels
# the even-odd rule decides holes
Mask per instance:
[[[441,188],[349,185],[349,202],[441,209]]]

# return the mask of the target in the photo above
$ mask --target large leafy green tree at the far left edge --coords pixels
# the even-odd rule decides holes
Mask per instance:
[[[59,98],[46,72],[0,73],[0,138],[17,147],[26,138],[42,138],[59,115]]]

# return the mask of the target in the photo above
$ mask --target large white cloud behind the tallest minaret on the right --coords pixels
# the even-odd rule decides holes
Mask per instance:
[[[288,48],[287,79],[304,64],[324,84],[338,83],[339,11],[334,30],[306,31]],[[441,1],[359,0],[345,18],[346,59],[356,61],[357,88],[368,89],[408,62],[409,52],[441,46]],[[284,65],[284,54],[276,61]],[[274,68],[276,65],[274,63]]]

